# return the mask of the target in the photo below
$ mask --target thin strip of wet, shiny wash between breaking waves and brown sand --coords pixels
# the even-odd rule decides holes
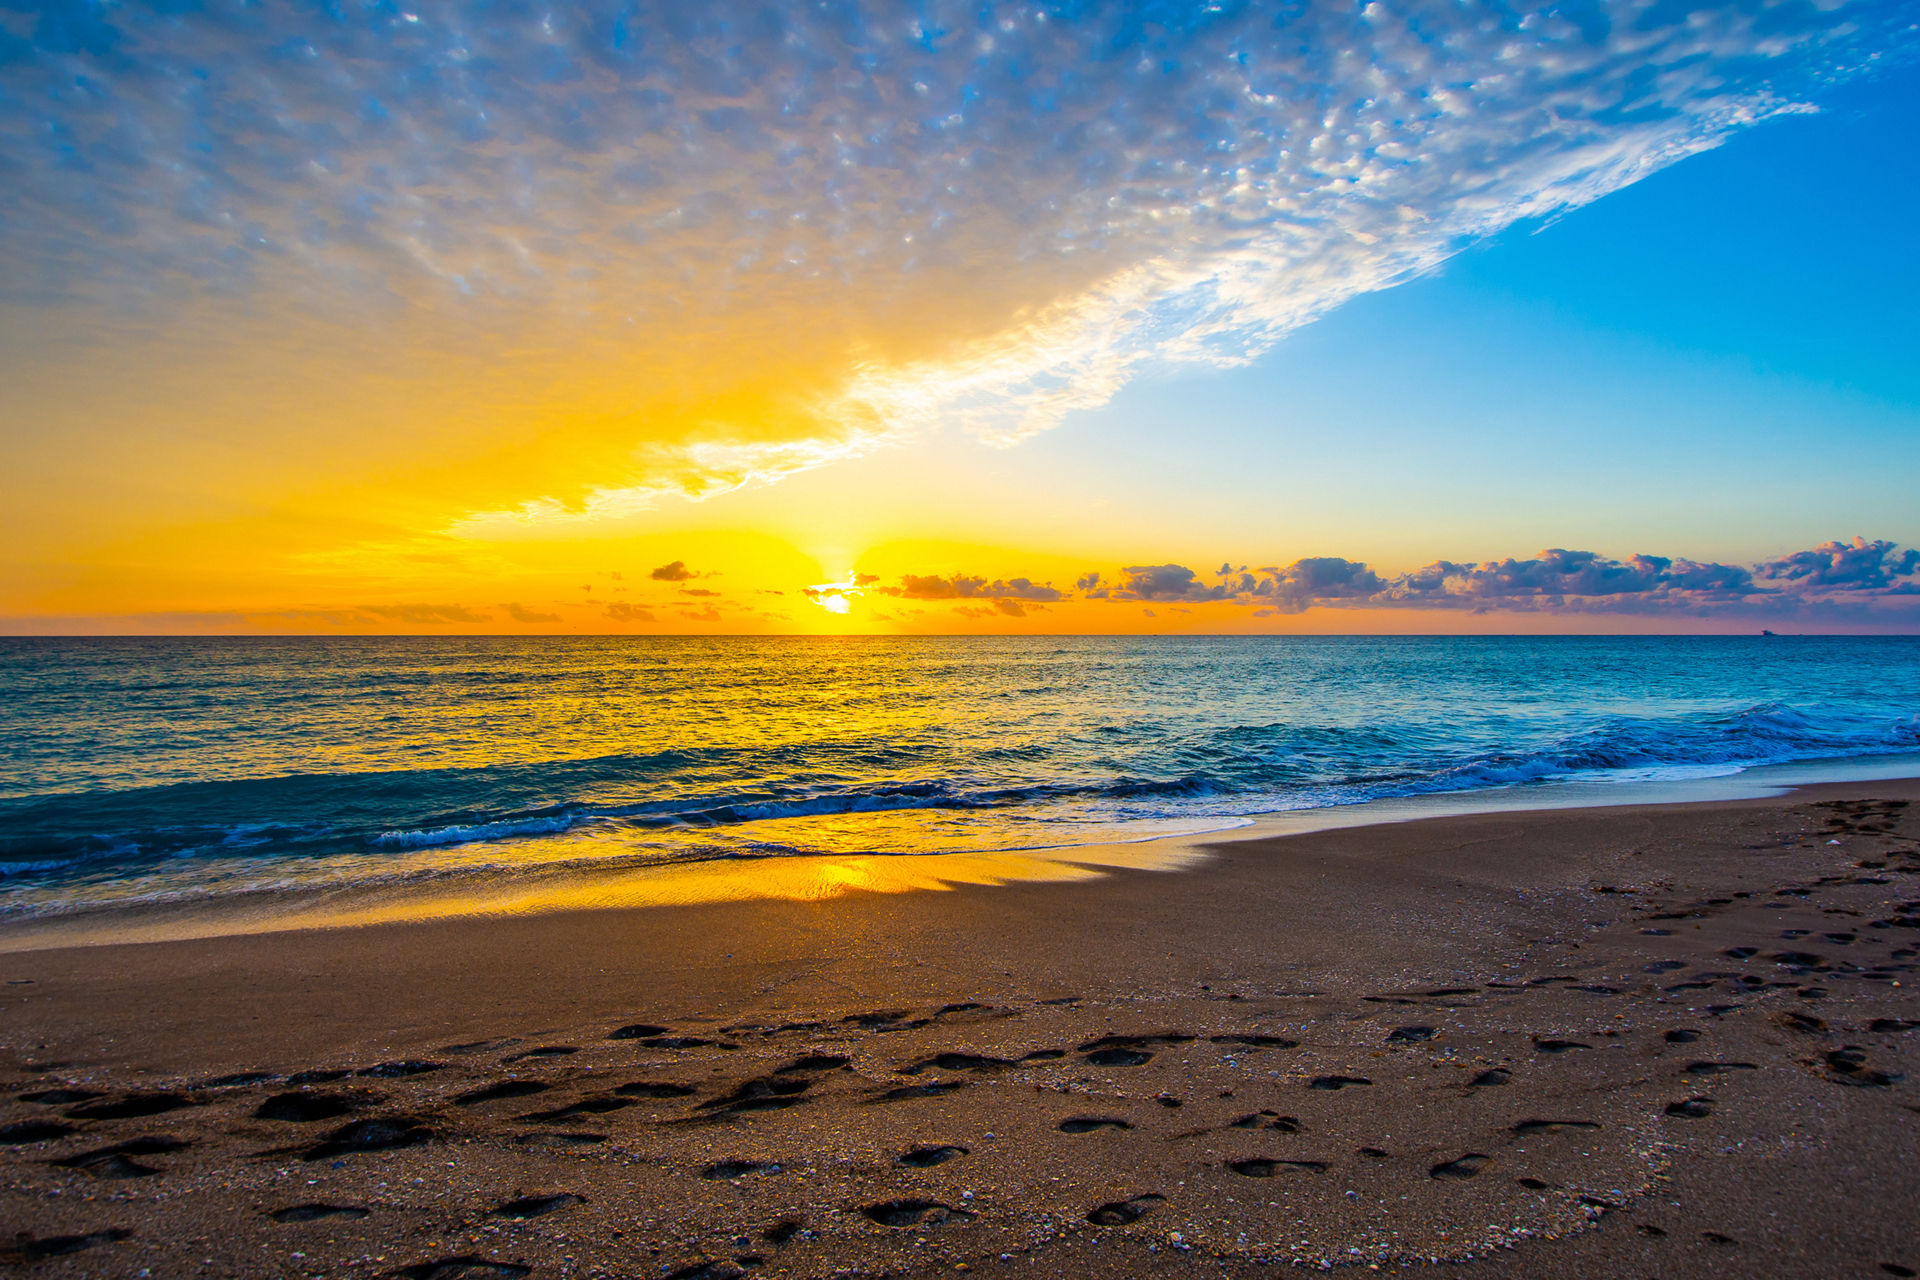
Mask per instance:
[[[1743,766],[1705,777],[1555,779],[1356,804],[1252,814],[1235,825],[1137,841],[1043,844],[943,854],[795,854],[595,867],[586,862],[476,869],[338,889],[240,890],[184,902],[88,906],[0,919],[0,956],[65,946],[180,942],[303,929],[359,929],[430,919],[492,919],[580,910],[636,910],[745,900],[822,900],[847,892],[929,892],[964,885],[1089,881],[1114,869],[1177,871],[1212,850],[1317,831],[1475,814],[1551,814],[1647,804],[1766,798],[1822,783],[1920,777],[1912,754],[1836,756]],[[618,858],[609,862],[618,864]]]

